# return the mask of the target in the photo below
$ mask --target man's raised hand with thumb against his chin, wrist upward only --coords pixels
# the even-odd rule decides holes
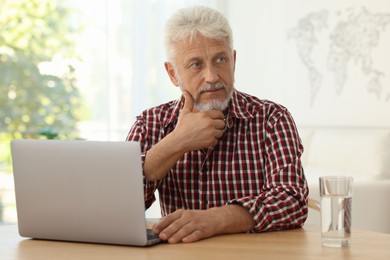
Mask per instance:
[[[184,106],[172,135],[185,152],[208,148],[218,143],[225,122],[221,111],[194,112],[192,96],[183,91]]]

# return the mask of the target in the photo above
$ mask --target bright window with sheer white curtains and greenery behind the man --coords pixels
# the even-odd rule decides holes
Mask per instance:
[[[142,110],[180,96],[164,70],[163,26],[176,9],[194,4],[222,11],[226,5],[222,0],[0,1],[0,106],[9,112],[0,114],[0,222],[16,222],[10,139],[125,140]],[[13,39],[12,29],[30,38]],[[17,44],[24,56],[17,56]],[[29,65],[18,71],[15,57]],[[16,72],[24,82],[15,81]],[[20,99],[23,93],[28,95]],[[11,128],[16,119],[20,123]]]

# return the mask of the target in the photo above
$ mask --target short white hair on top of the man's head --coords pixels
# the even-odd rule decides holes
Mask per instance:
[[[191,42],[197,34],[210,39],[227,39],[233,50],[232,29],[226,17],[212,8],[193,6],[178,10],[165,25],[164,44],[168,60],[174,60],[175,42],[187,38]]]

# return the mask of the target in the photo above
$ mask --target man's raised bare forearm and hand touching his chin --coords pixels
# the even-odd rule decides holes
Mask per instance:
[[[217,110],[194,111],[191,95],[183,91],[184,106],[175,129],[146,154],[144,174],[147,180],[161,180],[188,151],[214,146],[223,135],[223,113]]]

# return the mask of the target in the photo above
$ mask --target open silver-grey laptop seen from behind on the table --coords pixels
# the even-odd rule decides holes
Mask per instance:
[[[23,237],[146,246],[137,142],[13,140],[19,233]]]

